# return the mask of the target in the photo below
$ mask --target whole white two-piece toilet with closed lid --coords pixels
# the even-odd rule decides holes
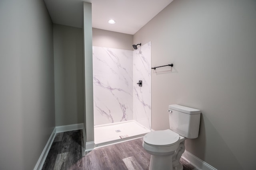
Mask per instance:
[[[143,137],[143,148],[151,154],[149,170],[183,170],[180,157],[185,139],[198,137],[201,111],[169,105],[170,129],[151,131]]]

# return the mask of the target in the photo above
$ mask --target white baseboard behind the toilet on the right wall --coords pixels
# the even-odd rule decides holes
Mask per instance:
[[[192,164],[199,170],[217,170],[216,168],[212,167],[211,165],[207,164],[203,160],[199,159],[198,157],[194,156],[192,153],[185,150],[182,154],[182,158]]]

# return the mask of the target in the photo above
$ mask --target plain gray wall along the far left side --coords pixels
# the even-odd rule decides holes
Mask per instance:
[[[52,21],[43,0],[0,16],[0,169],[31,170],[55,127]]]

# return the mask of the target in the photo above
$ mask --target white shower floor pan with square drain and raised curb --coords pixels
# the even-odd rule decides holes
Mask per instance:
[[[124,121],[94,126],[95,147],[143,137],[150,130],[136,121]]]

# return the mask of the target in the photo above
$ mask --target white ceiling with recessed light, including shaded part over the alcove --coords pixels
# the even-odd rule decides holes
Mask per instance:
[[[53,23],[82,28],[83,2],[92,3],[92,27],[134,34],[173,0],[44,0]],[[109,24],[108,20],[116,20]]]

